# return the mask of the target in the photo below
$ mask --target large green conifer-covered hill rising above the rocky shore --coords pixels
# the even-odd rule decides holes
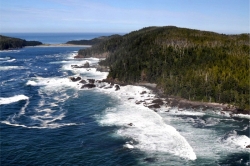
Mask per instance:
[[[175,26],[113,36],[78,58],[104,57],[109,80],[150,82],[167,96],[226,103],[245,111],[249,101],[249,34],[225,35]]]

